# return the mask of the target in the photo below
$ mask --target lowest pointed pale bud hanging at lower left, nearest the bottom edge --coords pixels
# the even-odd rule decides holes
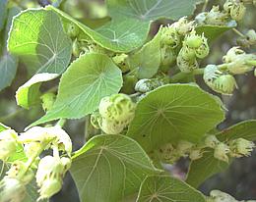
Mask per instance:
[[[62,187],[62,180],[59,178],[47,178],[43,181],[39,194],[38,200],[47,199],[53,196],[55,193],[59,192]]]

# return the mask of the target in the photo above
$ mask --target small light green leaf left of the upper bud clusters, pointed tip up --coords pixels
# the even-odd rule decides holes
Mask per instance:
[[[138,70],[139,78],[150,78],[157,74],[160,67],[160,34],[131,55],[128,63],[131,70]]]

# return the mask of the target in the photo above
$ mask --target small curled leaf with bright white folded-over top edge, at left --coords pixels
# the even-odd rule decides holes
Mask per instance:
[[[59,76],[58,74],[41,73],[32,76],[32,78],[23,84],[16,92],[17,104],[25,109],[40,102],[40,85],[41,82],[48,81]]]

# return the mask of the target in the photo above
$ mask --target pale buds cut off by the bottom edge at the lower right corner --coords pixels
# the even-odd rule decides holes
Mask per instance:
[[[212,190],[210,196],[206,197],[207,202],[239,202],[234,197],[220,190]],[[255,200],[240,201],[240,202],[256,202]]]

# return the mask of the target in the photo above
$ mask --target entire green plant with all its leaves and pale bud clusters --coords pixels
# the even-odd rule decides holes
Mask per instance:
[[[6,168],[0,201],[47,201],[70,171],[81,202],[235,202],[221,191],[205,196],[197,188],[235,158],[250,156],[256,121],[219,131],[224,104],[196,76],[212,91],[232,95],[235,76],[255,71],[255,54],[240,47],[230,48],[222,64],[201,67],[210,45],[234,29],[255,1],[226,0],[223,10],[214,6],[200,13],[201,3],[108,0],[107,16],[94,19],[93,28],[93,20],[66,12],[65,1],[44,8],[0,1],[0,90],[23,64],[30,78],[16,92],[17,105],[45,111],[20,134],[0,124]],[[160,25],[152,36],[151,25],[162,19],[173,23]],[[256,32],[249,30],[238,42],[250,48]],[[83,118],[86,143],[72,153],[62,127]],[[186,181],[165,169],[181,158],[190,160]]]

